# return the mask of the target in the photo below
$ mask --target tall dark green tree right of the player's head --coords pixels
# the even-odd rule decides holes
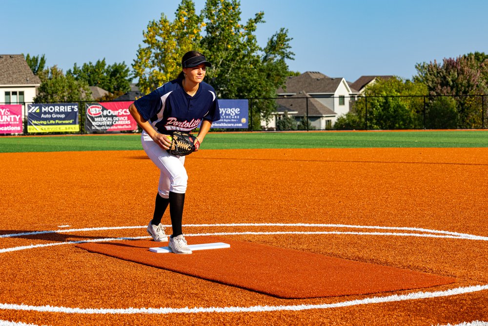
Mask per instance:
[[[276,89],[285,85],[289,76],[285,60],[293,59],[287,30],[282,28],[261,48],[254,35],[264,13],[242,25],[240,2],[237,0],[207,0],[203,9],[206,36],[205,51],[215,65],[208,71],[210,83],[221,98],[274,98]],[[215,63],[215,64],[214,64]],[[253,129],[276,110],[273,101],[252,102]]]

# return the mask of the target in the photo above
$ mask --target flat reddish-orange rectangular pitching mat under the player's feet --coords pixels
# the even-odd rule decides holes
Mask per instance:
[[[82,243],[77,247],[126,261],[237,286],[282,299],[364,295],[454,283],[455,279],[378,264],[218,237],[191,237],[192,244],[225,242],[227,249],[192,255],[156,254],[149,240]]]

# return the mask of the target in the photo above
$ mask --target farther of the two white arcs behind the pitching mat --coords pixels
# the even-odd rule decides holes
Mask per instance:
[[[170,227],[171,224],[163,225],[164,227]],[[451,231],[442,230],[431,230],[424,228],[415,227],[391,227],[391,226],[371,226],[371,225],[347,225],[347,224],[310,224],[310,223],[222,223],[222,224],[183,224],[183,227],[258,227],[258,226],[285,226],[285,227],[327,227],[327,228],[356,228],[356,229],[378,229],[378,230],[397,230],[397,231],[417,231],[417,232],[427,232],[434,234],[448,234],[452,236],[468,237],[468,238],[484,238],[488,237],[474,236],[466,233],[458,233]],[[142,229],[146,228],[146,225],[138,226],[113,226],[113,227],[95,227],[95,228],[82,228],[82,229],[66,229],[66,230],[51,230],[51,231],[33,231],[15,234],[3,234],[0,238],[12,238],[12,237],[22,237],[31,236],[39,234],[50,234],[50,233],[71,233],[71,232],[88,232],[88,231],[104,231],[104,230],[122,230],[122,229]]]

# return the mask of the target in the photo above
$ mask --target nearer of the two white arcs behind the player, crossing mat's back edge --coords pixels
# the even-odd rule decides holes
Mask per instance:
[[[355,236],[395,236],[395,237],[420,237],[420,238],[442,238],[442,239],[465,239],[465,240],[483,240],[488,241],[488,237],[480,236],[451,236],[451,235],[436,235],[436,234],[426,234],[426,233],[394,233],[394,232],[340,232],[340,231],[276,231],[276,232],[214,232],[214,233],[193,233],[185,234],[185,237],[207,237],[207,236],[239,236],[239,235],[285,235],[285,234],[298,234],[298,235],[355,235]],[[100,238],[100,239],[88,239],[79,241],[65,241],[65,242],[52,242],[52,243],[41,243],[41,244],[31,244],[28,246],[10,247],[0,249],[0,254],[34,249],[43,247],[52,247],[59,245],[68,244],[78,244],[87,242],[109,242],[109,241],[119,241],[119,240],[137,240],[137,239],[149,239],[151,237],[122,237],[122,238]]]

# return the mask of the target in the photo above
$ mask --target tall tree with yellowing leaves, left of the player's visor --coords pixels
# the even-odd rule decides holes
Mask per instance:
[[[143,32],[143,43],[139,45],[134,60],[135,77],[142,93],[149,93],[164,83],[175,79],[181,71],[181,58],[188,51],[202,51],[200,35],[205,24],[195,14],[195,4],[183,0],[170,22],[161,14],[159,21],[151,21]]]

